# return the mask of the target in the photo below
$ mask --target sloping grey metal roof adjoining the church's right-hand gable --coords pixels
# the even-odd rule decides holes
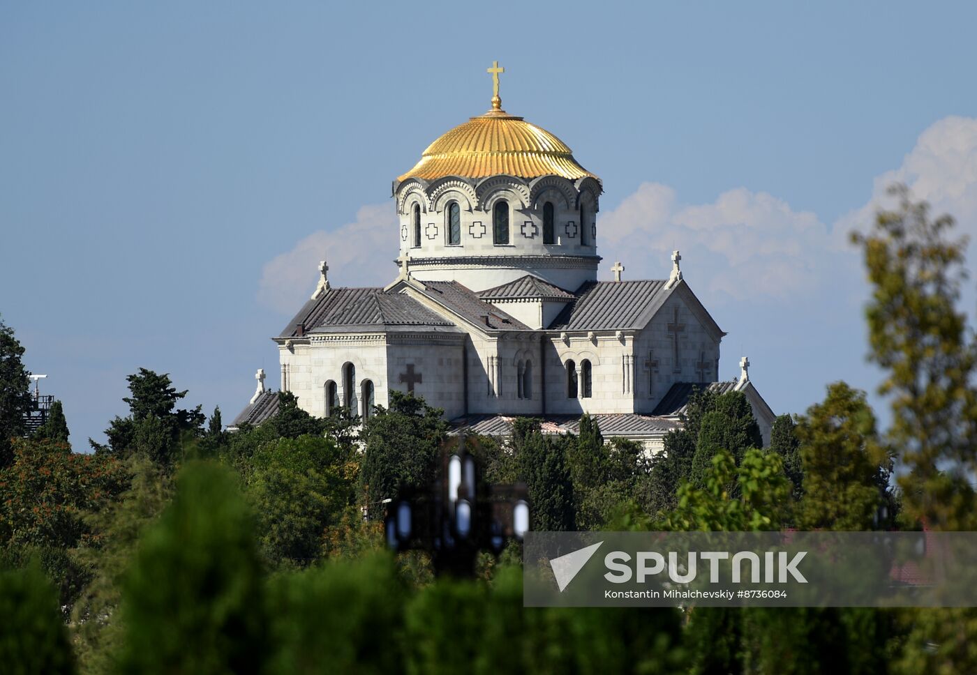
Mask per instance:
[[[664,290],[665,281],[587,281],[576,300],[549,325],[552,330],[642,328],[638,319]]]

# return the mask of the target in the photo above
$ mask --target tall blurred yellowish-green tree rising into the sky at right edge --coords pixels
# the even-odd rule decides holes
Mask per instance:
[[[951,216],[931,219],[925,202],[895,186],[897,209],[879,211],[854,234],[872,287],[869,358],[885,371],[890,442],[910,469],[900,483],[910,515],[941,529],[977,528],[977,349],[956,305],[966,239],[949,239]]]

